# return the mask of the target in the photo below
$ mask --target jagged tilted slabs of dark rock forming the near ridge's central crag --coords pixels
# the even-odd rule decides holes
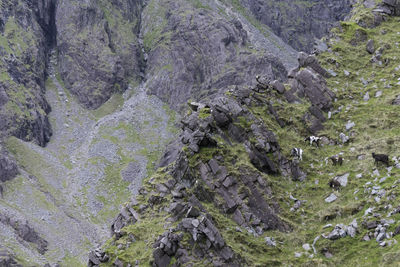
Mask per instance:
[[[135,234],[127,229],[161,207],[170,214],[167,222],[177,226],[167,228],[153,244],[153,266],[168,266],[172,258],[178,265],[203,258],[215,266],[246,264],[223,238],[214,209],[226,214],[237,229],[255,236],[268,230],[291,231],[291,225],[278,215],[280,207],[265,175],[304,180],[305,174],[297,162],[284,157],[275,134],[250,111],[250,107],[268,105],[273,92],[237,89],[230,93],[230,97],[190,103],[191,114],[182,119],[179,140],[161,160],[159,178],[150,179],[139,190],[140,203],[146,204],[134,201],[123,208],[111,227],[113,242],[123,242],[130,235],[134,240]],[[266,116],[276,119],[274,112]],[[241,149],[243,158],[231,149]],[[185,234],[190,236],[189,243],[182,241]],[[111,250],[97,254],[90,254],[89,266],[124,262]]]

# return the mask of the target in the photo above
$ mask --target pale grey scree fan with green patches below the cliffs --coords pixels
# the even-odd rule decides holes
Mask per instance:
[[[49,144],[43,148],[17,139],[8,142],[29,174],[23,172],[6,184],[0,209],[9,210],[7,203],[13,203],[13,218],[26,219],[48,242],[45,256],[20,251],[29,264],[67,264],[72,255],[85,263],[88,250],[109,237],[120,205],[137,193],[175,132],[174,113],[141,86],[88,111],[57,76],[52,56],[46,82],[52,107]],[[7,247],[18,247],[10,227],[2,227],[0,235]]]

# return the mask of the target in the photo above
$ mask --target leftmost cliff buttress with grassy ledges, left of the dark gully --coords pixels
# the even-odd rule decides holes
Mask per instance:
[[[11,134],[44,146],[52,134],[44,98],[52,2],[6,1],[0,10],[0,137]]]

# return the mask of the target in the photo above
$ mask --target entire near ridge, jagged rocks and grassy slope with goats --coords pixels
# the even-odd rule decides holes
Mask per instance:
[[[357,3],[285,85],[189,103],[89,266],[397,266],[399,12]]]

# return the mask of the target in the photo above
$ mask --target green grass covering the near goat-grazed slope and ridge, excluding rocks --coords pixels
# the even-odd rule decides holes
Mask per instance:
[[[364,11],[365,10],[361,10]],[[354,17],[359,19],[357,13]],[[364,15],[368,15],[365,12]],[[390,18],[387,22],[375,29],[363,29],[354,23],[354,20],[342,24],[342,30],[337,29],[338,38],[332,42],[333,52],[326,52],[320,55],[322,64],[329,69],[333,69],[338,73],[337,77],[328,79],[328,85],[336,91],[338,101],[334,104],[337,109],[343,106],[343,111],[333,116],[332,119],[325,123],[326,130],[323,135],[338,140],[340,132],[345,132],[345,124],[348,120],[356,123],[352,129],[354,136],[349,144],[343,146],[324,146],[322,148],[309,147],[303,142],[303,138],[307,135],[304,126],[300,122],[301,114],[307,105],[289,105],[277,104],[280,116],[287,122],[292,124],[281,129],[277,123],[268,115],[262,107],[253,107],[253,113],[264,120],[266,125],[273,130],[277,136],[282,150],[289,157],[292,147],[302,147],[304,149],[304,161],[301,167],[307,171],[308,177],[305,182],[292,182],[289,179],[283,179],[280,176],[272,177],[264,175],[264,178],[271,185],[275,196],[277,196],[279,204],[282,208],[281,216],[289,221],[293,226],[293,232],[285,234],[280,232],[267,232],[261,237],[253,237],[246,232],[238,233],[235,231],[236,224],[226,215],[221,214],[212,206],[207,206],[208,211],[213,215],[217,225],[221,227],[221,232],[227,243],[234,251],[244,257],[251,266],[265,265],[328,265],[328,266],[381,266],[390,265],[398,262],[400,258],[399,244],[391,247],[381,248],[375,240],[369,242],[362,241],[362,237],[367,230],[361,226],[364,219],[372,220],[373,217],[365,217],[364,211],[367,208],[374,207],[374,211],[385,218],[391,209],[387,209],[388,205],[393,208],[397,207],[396,200],[388,200],[389,195],[397,196],[399,188],[396,181],[399,179],[400,171],[393,169],[386,181],[379,183],[379,178],[375,179],[371,173],[375,166],[370,156],[371,152],[388,153],[390,156],[400,154],[397,146],[399,122],[397,120],[398,106],[392,106],[391,100],[398,94],[399,85],[397,85],[398,74],[395,69],[400,65],[398,58],[400,48],[396,45],[398,32],[400,32],[400,18]],[[383,59],[389,59],[387,65],[372,64],[370,62],[371,55],[366,52],[366,42],[360,42],[357,45],[350,45],[349,42],[354,39],[356,30],[365,32],[367,39],[374,39],[375,47],[387,47],[383,53]],[[382,34],[382,31],[385,34]],[[389,46],[388,46],[389,45]],[[390,47],[390,48],[389,48]],[[334,59],[338,62],[330,64]],[[349,76],[344,74],[344,70],[350,72]],[[369,80],[369,84],[364,86],[360,81],[361,78]],[[385,86],[386,85],[391,85]],[[382,91],[382,96],[375,98],[377,91]],[[369,92],[371,99],[368,102],[363,101],[363,95]],[[349,134],[349,133],[347,133]],[[241,159],[240,164],[251,167],[247,155],[243,151],[241,145],[227,147],[224,151],[202,150],[198,158],[207,157],[212,153],[224,153],[226,157],[238,156]],[[330,163],[325,165],[324,159],[328,156],[343,153],[345,162],[343,166],[332,166]],[[365,154],[364,160],[357,160],[357,156]],[[233,167],[233,166],[232,166]],[[238,166],[236,165],[236,168]],[[388,176],[387,170],[383,167],[378,168],[381,177]],[[231,169],[234,171],[234,168]],[[349,184],[339,192],[333,191],[328,186],[329,180],[343,173],[350,173]],[[362,178],[356,178],[359,173],[363,174]],[[153,183],[161,182],[164,173],[162,170],[153,177]],[[386,189],[385,197],[379,203],[369,193],[365,192],[366,183],[372,182],[373,185],[379,185]],[[146,183],[146,186],[150,186]],[[151,191],[148,190],[148,191]],[[357,191],[357,193],[355,193]],[[339,197],[335,202],[328,204],[324,199],[331,194]],[[290,208],[293,202],[289,199],[289,193],[294,197],[306,200],[307,202],[297,212],[291,212]],[[139,201],[145,201],[140,199]],[[390,207],[390,206],[389,206]],[[161,216],[161,217],[160,217]],[[151,259],[151,244],[155,241],[157,234],[163,232],[163,221],[166,214],[163,212],[150,210],[142,218],[142,223],[129,226],[128,232],[139,236],[140,242],[128,244],[129,249],[117,249],[110,242],[106,245],[107,252],[112,258],[117,256],[124,257],[124,260],[134,262],[140,259],[141,263],[146,263]],[[326,218],[331,218],[327,220]],[[400,215],[391,217],[396,222],[400,219]],[[357,219],[359,224],[359,232],[355,238],[345,237],[336,241],[330,241],[321,238],[316,243],[318,250],[317,255],[304,253],[302,244],[312,244],[314,238],[322,233],[328,233],[330,229],[323,229],[323,226],[331,223],[349,224],[353,219]],[[143,232],[142,226],[146,223],[152,231]],[[388,231],[393,231],[396,224],[391,225]],[[154,228],[154,229],[153,229]],[[267,247],[264,243],[264,236],[273,236],[278,241],[277,248]],[[398,237],[395,237],[399,241]],[[127,244],[126,240],[120,240]],[[146,247],[143,247],[145,245]],[[325,248],[333,254],[332,258],[326,258],[321,250]],[[139,253],[140,249],[140,253]],[[144,253],[144,251],[146,253]],[[295,252],[303,252],[299,258],[295,257]],[[144,254],[143,254],[144,253]],[[201,265],[201,263],[196,263]]]

